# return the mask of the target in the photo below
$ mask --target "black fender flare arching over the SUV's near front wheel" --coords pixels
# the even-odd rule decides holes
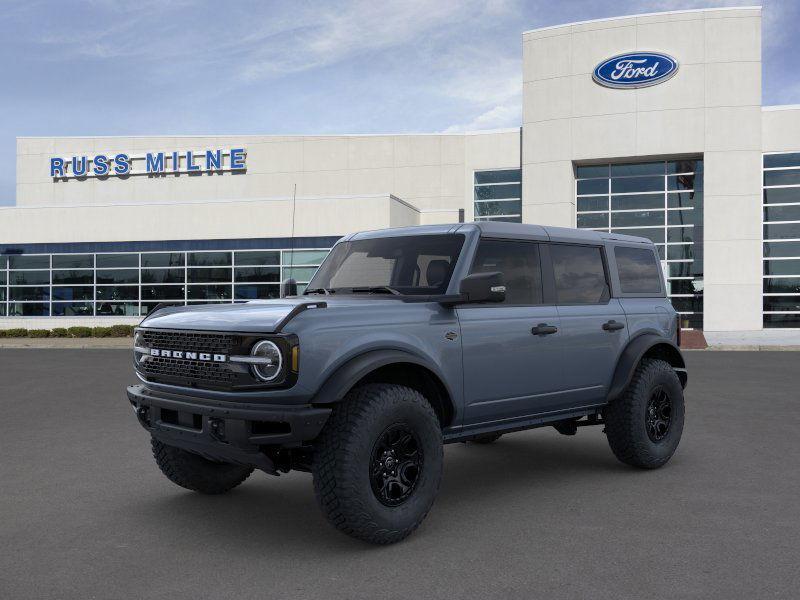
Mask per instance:
[[[386,365],[396,363],[411,363],[418,365],[431,371],[442,385],[445,386],[447,393],[452,398],[452,390],[450,390],[445,378],[437,368],[431,365],[423,358],[416,356],[410,352],[396,349],[386,350],[369,350],[363,354],[359,354],[346,363],[341,365],[336,371],[331,374],[325,383],[317,390],[317,393],[311,400],[312,404],[332,404],[339,402],[349,392],[353,386],[363,379],[366,375],[385,367]]]

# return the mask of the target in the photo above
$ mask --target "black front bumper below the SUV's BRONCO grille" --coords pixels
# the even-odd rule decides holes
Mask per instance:
[[[153,437],[207,458],[275,473],[264,446],[297,447],[316,438],[331,409],[308,404],[239,404],[128,388],[139,423]]]

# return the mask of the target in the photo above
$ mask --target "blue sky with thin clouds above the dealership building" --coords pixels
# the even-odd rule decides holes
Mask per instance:
[[[522,32],[754,0],[0,0],[17,136],[457,132],[522,123]],[[764,0],[763,103],[800,103],[800,0]]]

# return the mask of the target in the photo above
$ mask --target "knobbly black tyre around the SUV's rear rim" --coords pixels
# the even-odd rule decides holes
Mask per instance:
[[[653,441],[647,433],[646,413],[659,386],[669,396],[671,414],[664,438]],[[623,463],[657,469],[678,447],[684,413],[683,388],[673,368],[663,360],[643,359],[625,392],[603,410],[608,444]]]

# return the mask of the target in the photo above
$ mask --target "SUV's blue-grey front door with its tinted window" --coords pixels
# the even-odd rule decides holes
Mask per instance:
[[[546,412],[562,388],[561,323],[542,303],[535,242],[481,240],[472,273],[500,271],[506,299],[459,307],[464,426]]]

